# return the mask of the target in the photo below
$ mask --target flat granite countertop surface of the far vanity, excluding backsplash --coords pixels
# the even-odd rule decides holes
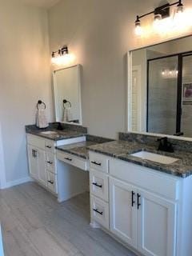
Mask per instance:
[[[43,134],[44,132],[52,131],[54,134]],[[65,130],[56,130],[56,129],[48,129],[48,130],[26,130],[27,134],[34,134],[42,138],[48,138],[54,141],[59,141],[62,139],[67,139],[67,138],[77,138],[77,137],[82,137],[85,136],[86,133],[78,131],[78,130],[70,130],[70,129],[65,129]]]

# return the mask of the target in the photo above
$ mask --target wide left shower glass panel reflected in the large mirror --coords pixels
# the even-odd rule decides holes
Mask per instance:
[[[178,56],[148,61],[147,131],[175,134],[178,106]]]

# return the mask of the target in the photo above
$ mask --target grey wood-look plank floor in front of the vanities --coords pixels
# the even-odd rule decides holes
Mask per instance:
[[[89,221],[88,193],[59,204],[34,182],[0,190],[6,256],[134,256]]]

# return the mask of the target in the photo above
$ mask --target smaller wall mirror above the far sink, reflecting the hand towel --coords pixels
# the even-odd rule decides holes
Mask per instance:
[[[56,122],[82,125],[80,65],[54,70],[54,109]]]

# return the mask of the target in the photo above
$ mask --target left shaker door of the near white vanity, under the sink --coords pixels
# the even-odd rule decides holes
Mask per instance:
[[[134,186],[110,178],[110,230],[135,248],[138,222],[136,193]]]

